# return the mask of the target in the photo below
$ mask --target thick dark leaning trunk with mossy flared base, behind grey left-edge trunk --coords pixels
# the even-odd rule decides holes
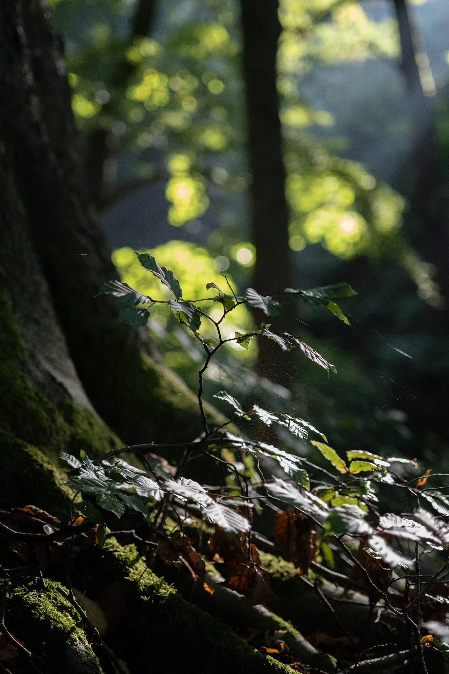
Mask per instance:
[[[96,298],[117,278],[84,191],[61,53],[38,1],[0,7],[0,124],[32,241],[69,353],[101,417],[127,441],[193,439],[197,398],[160,362],[146,330]]]

